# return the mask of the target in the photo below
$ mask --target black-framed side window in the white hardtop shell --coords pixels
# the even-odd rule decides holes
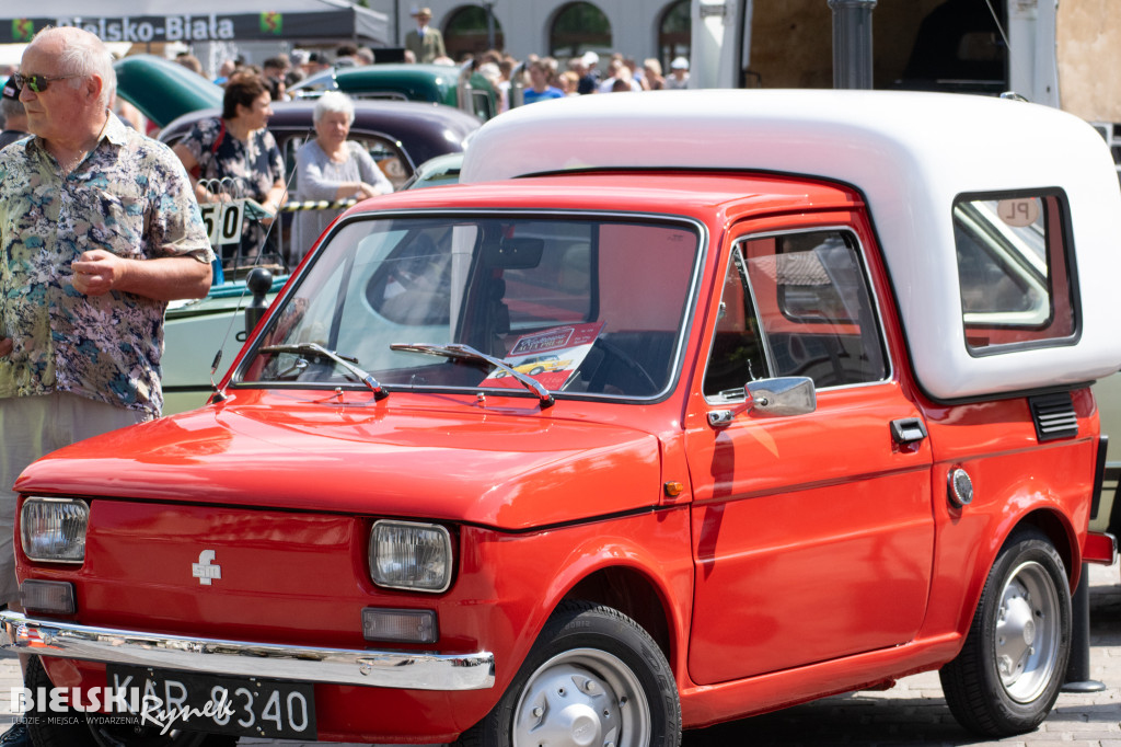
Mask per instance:
[[[1077,336],[1077,288],[1059,191],[962,195],[954,242],[965,342],[974,356]]]

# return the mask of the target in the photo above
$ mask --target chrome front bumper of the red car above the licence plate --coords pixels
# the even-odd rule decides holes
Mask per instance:
[[[404,690],[484,690],[494,685],[494,655],[311,648],[140,630],[99,628],[0,612],[7,639],[21,654],[265,677]]]

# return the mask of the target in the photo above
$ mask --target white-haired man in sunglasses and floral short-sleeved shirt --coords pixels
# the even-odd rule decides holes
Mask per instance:
[[[187,175],[110,113],[112,62],[92,34],[47,28],[15,76],[34,137],[0,150],[0,603],[19,600],[16,478],[48,451],[157,417],[167,302],[210,288]]]

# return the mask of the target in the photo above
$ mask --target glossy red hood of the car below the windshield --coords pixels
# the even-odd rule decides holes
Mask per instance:
[[[67,446],[19,492],[415,516],[526,529],[658,502],[658,439],[456,404],[209,406]],[[571,403],[567,403],[571,405]]]

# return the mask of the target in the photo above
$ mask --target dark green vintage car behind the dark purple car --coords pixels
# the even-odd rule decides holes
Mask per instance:
[[[353,99],[427,101],[455,107],[485,122],[498,113],[498,93],[471,64],[419,65],[387,63],[362,67],[335,67],[294,85],[294,96],[317,96],[342,91]]]

